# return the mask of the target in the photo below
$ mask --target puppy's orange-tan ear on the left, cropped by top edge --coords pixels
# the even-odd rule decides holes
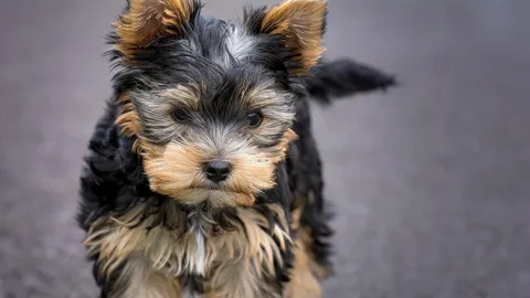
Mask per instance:
[[[130,57],[157,38],[181,34],[200,7],[194,0],[127,0],[115,23],[116,50]]]

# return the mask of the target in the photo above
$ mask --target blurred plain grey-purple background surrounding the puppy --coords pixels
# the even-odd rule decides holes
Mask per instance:
[[[73,216],[124,3],[0,1],[2,298],[96,295]],[[326,43],[403,86],[314,109],[338,211],[325,297],[529,298],[530,1],[329,0]]]

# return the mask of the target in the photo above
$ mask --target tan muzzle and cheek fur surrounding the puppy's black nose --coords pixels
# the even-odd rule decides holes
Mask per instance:
[[[296,134],[287,130],[273,152],[239,146],[226,156],[233,171],[221,190],[201,188],[204,183],[202,164],[212,153],[200,145],[171,142],[160,147],[140,140],[140,147],[151,190],[184,204],[208,200],[213,206],[250,206],[257,193],[274,187],[276,163],[285,158],[288,143],[295,138]]]

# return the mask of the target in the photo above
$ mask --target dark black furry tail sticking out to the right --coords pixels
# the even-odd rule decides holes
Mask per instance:
[[[358,93],[386,91],[398,85],[393,75],[351,60],[320,61],[304,78],[309,96],[321,104]]]

